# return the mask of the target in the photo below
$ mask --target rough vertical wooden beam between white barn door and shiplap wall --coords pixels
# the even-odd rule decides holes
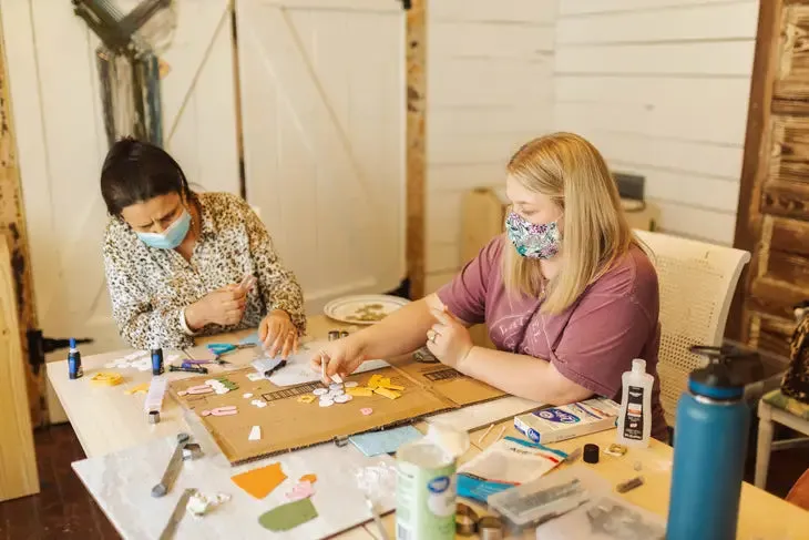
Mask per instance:
[[[424,295],[427,159],[427,0],[413,0],[407,14],[407,238],[410,296]]]

